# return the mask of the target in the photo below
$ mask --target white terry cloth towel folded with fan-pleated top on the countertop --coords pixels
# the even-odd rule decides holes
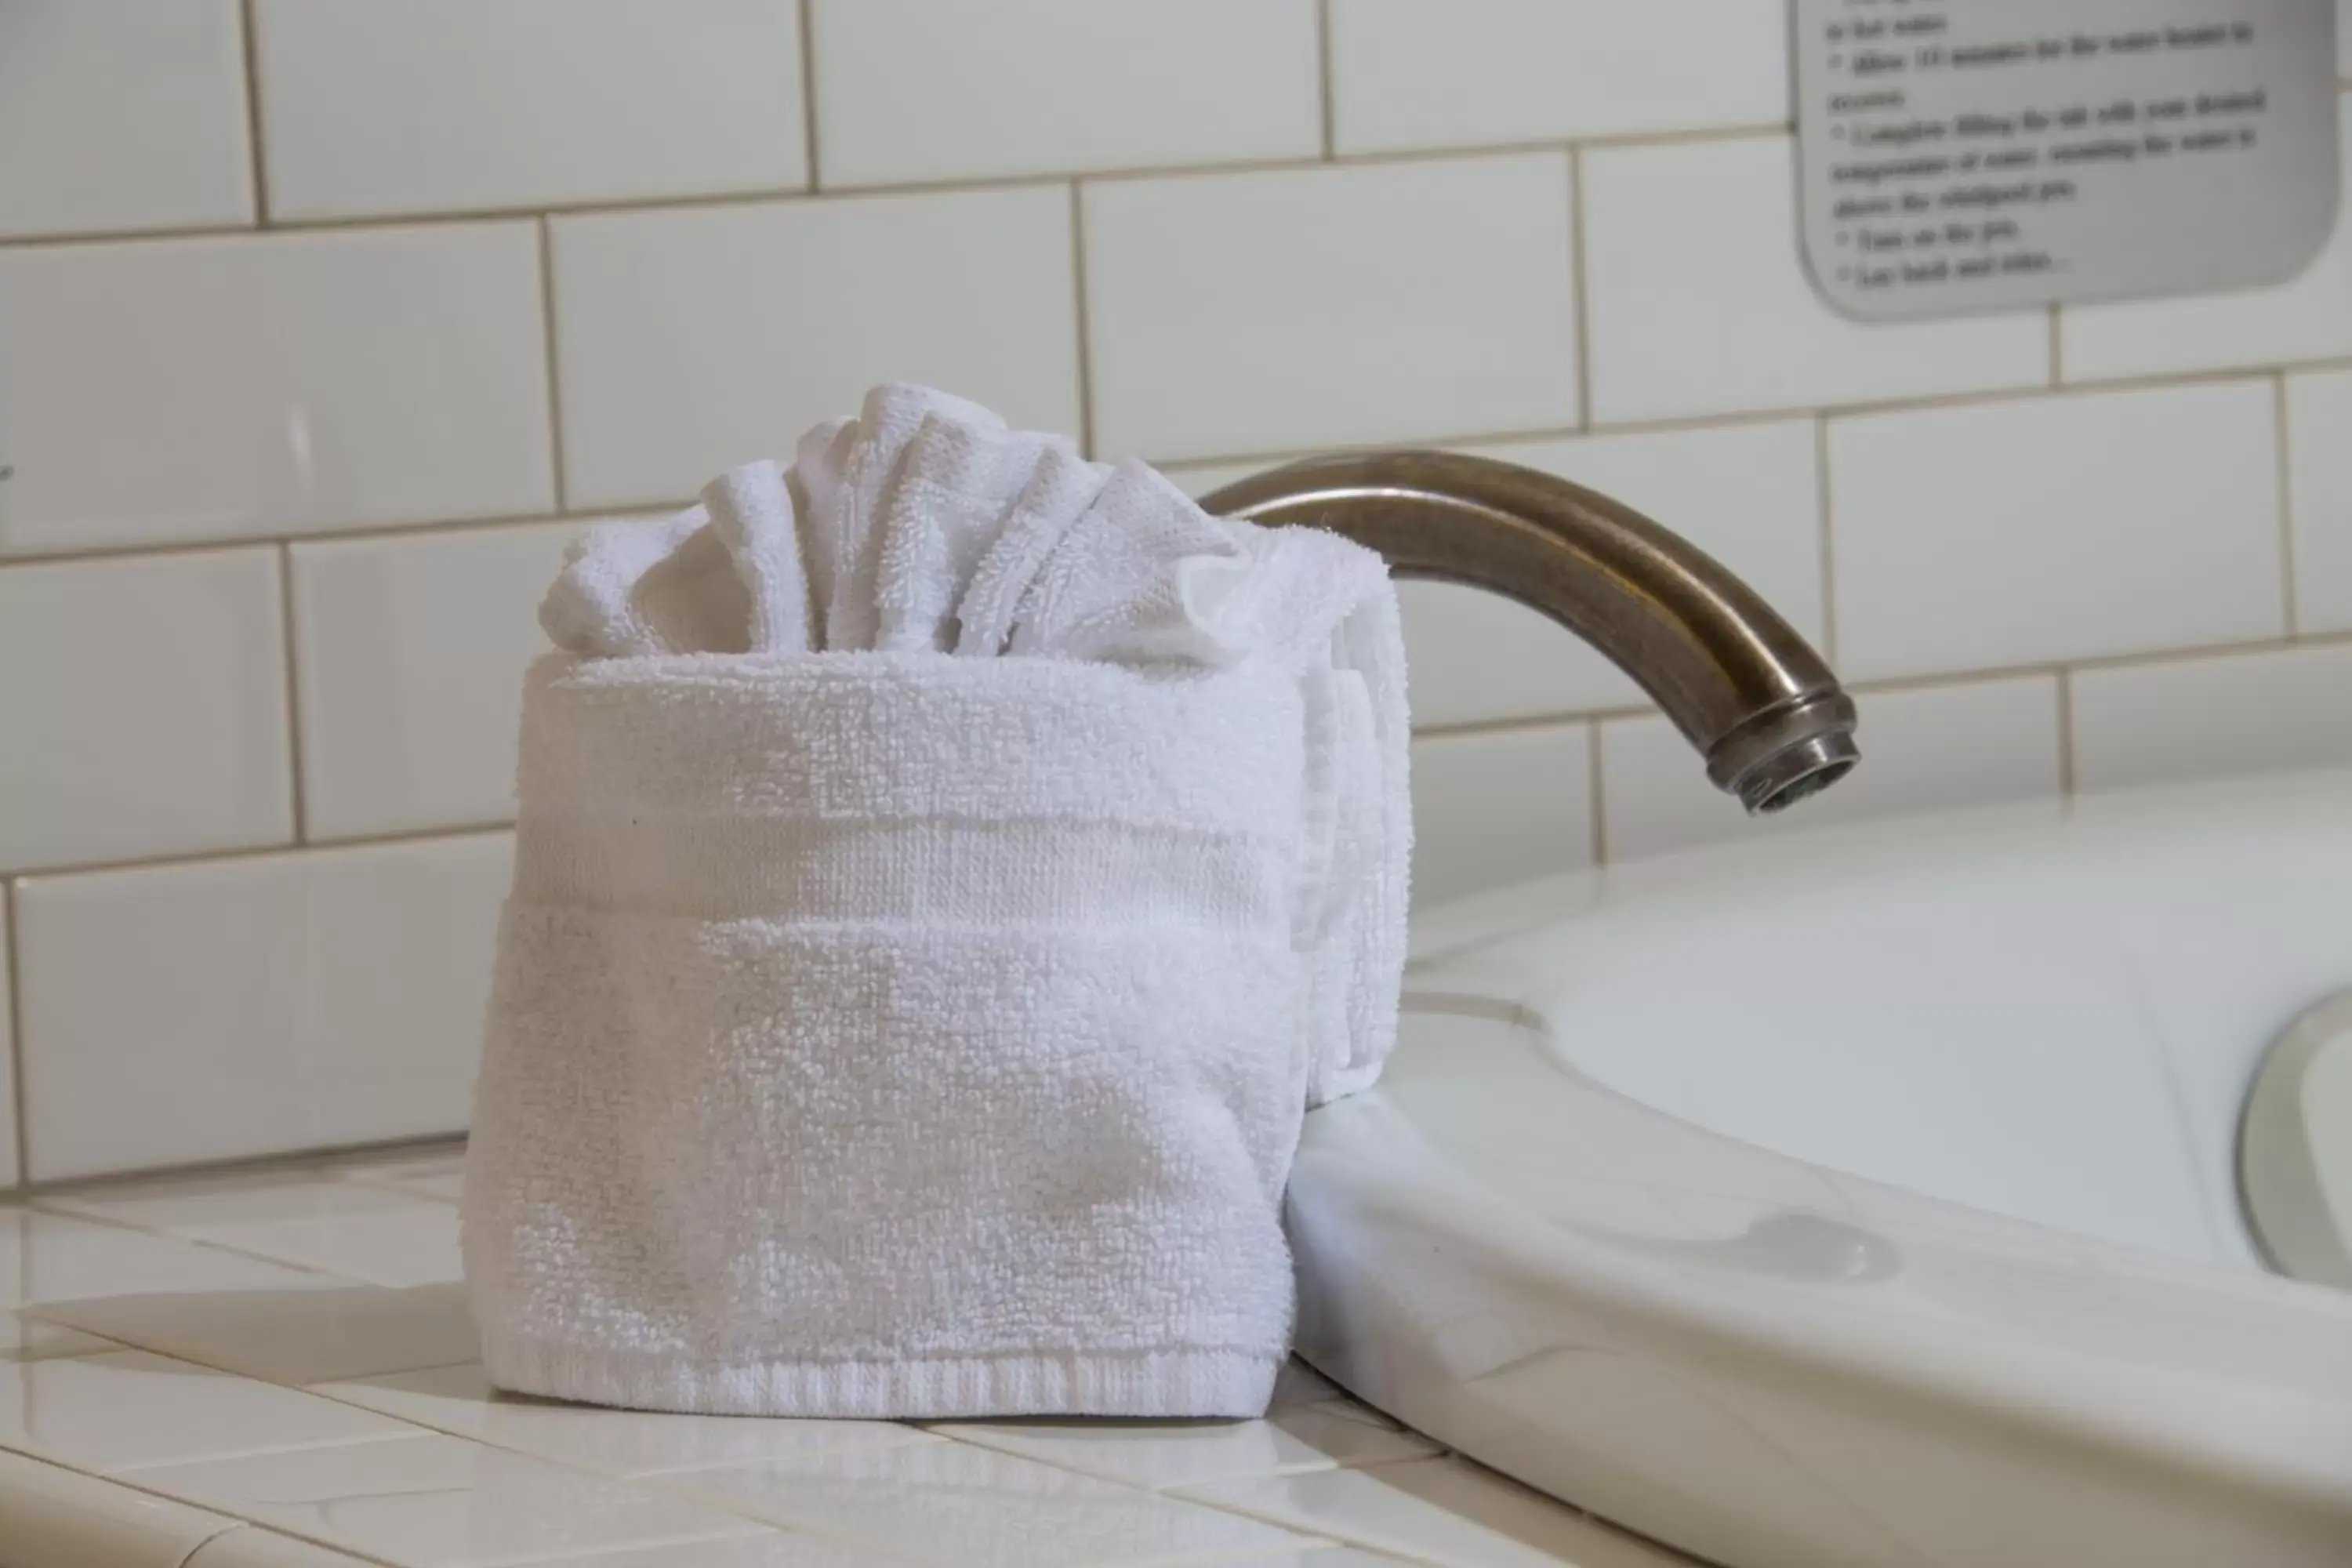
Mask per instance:
[[[590,534],[541,618],[466,1173],[492,1380],[1263,1413],[1301,1117],[1395,1039],[1378,557],[882,388]]]

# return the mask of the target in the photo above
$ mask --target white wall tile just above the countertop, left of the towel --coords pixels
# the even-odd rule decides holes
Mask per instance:
[[[508,853],[468,835],[19,882],[33,1178],[463,1126]]]

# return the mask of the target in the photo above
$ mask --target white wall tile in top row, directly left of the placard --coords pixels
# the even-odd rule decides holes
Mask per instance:
[[[1341,153],[1780,125],[1776,0],[1334,0]]]

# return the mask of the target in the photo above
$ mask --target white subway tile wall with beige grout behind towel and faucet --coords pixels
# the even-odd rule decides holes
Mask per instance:
[[[1863,769],[1755,825],[1573,637],[1409,585],[1423,905],[2347,755],[2352,221],[1863,327],[1788,113],[1780,0],[19,0],[0,1185],[456,1128],[562,541],[894,376],[1195,487],[1548,468],[1863,682]]]

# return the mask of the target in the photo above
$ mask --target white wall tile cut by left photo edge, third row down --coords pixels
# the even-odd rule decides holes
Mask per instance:
[[[294,837],[278,555],[0,564],[0,870]]]

